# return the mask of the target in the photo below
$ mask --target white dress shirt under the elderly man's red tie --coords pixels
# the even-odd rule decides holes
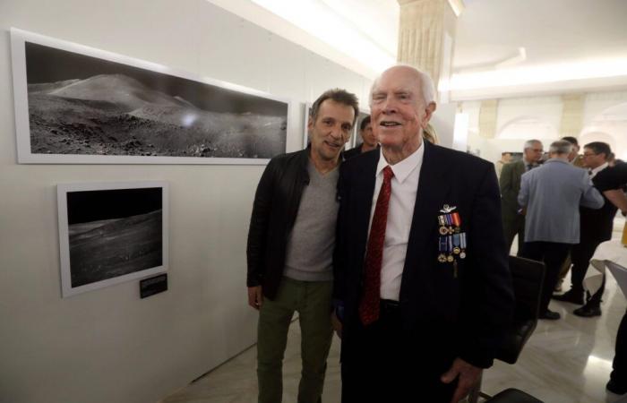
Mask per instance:
[[[379,157],[374,183],[373,206],[370,210],[370,226],[373,224],[374,209],[383,183],[383,168],[389,164],[383,157]],[[414,205],[418,191],[420,167],[422,167],[425,146],[421,143],[418,150],[408,158],[392,165],[394,176],[391,179],[391,195],[388,210],[388,221],[385,227],[385,242],[383,244],[383,259],[381,265],[381,298],[399,300],[400,279],[405,266],[405,255],[408,249],[409,229],[414,217]]]

